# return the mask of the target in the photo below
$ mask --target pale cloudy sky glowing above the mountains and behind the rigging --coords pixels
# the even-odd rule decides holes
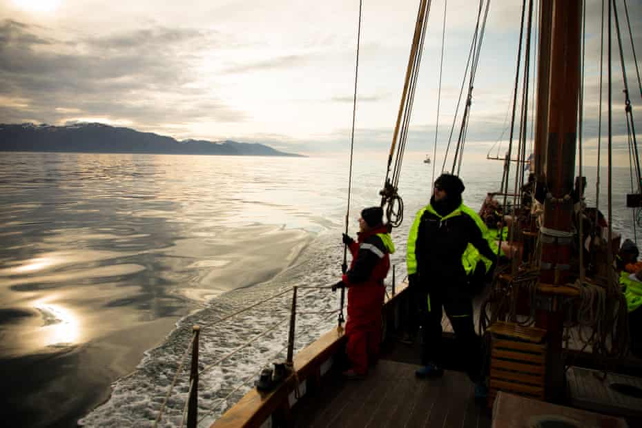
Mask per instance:
[[[418,5],[418,0],[362,3],[356,155],[389,150]],[[444,5],[431,2],[407,144],[415,157],[433,153],[436,130],[437,158],[445,152],[476,23],[477,1],[447,1],[437,117]],[[617,5],[625,29],[622,0]],[[640,58],[642,5],[627,5]],[[0,0],[0,123],[99,121],[176,139],[233,139],[308,155],[347,154],[358,16],[358,0]],[[483,159],[493,147],[507,149],[520,17],[521,2],[491,2],[467,159]],[[587,1],[587,164],[596,159],[600,19],[601,1]],[[630,97],[639,117],[642,93],[628,33],[623,37]],[[614,159],[628,165],[619,61],[613,70]],[[642,129],[637,117],[634,124]],[[494,146],[502,138],[502,146]]]

